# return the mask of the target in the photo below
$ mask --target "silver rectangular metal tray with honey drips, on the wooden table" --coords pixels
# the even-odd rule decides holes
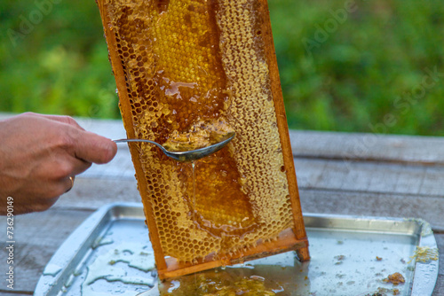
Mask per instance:
[[[394,289],[398,295],[432,295],[438,248],[427,222],[330,214],[304,219],[311,261],[300,263],[289,252],[211,272],[263,282],[282,296],[392,295]],[[424,248],[424,262],[416,260],[415,252]],[[385,283],[395,272],[404,284]],[[35,295],[159,295],[159,289],[179,291],[181,284],[157,282],[141,204],[111,204],[91,214],[59,247]]]

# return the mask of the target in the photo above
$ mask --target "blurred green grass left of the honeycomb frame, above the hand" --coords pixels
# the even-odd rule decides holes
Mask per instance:
[[[33,29],[23,30],[23,18],[39,12],[36,3],[0,4],[0,109],[119,118],[95,2],[53,4]],[[29,33],[16,37],[11,28]]]

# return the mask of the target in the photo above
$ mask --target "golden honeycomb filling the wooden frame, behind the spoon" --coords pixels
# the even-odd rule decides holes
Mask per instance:
[[[103,2],[123,68],[119,94],[131,106],[129,134],[165,144],[204,137],[221,122],[236,132],[194,165],[134,144],[163,254],[229,257],[293,227],[257,1]]]

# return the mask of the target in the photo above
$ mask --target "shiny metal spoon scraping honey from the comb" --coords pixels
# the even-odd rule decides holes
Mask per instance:
[[[166,156],[170,157],[171,159],[178,160],[178,161],[193,161],[193,160],[200,160],[202,157],[208,156],[214,152],[217,152],[218,150],[222,149],[226,144],[228,144],[236,135],[236,133],[228,133],[222,141],[212,144],[208,147],[203,147],[195,150],[190,151],[181,151],[181,152],[170,152],[166,150],[163,145],[156,143],[154,141],[150,140],[144,140],[144,139],[118,139],[113,140],[115,143],[124,143],[124,142],[146,142],[155,144],[157,147],[159,147],[163,153],[165,153]]]

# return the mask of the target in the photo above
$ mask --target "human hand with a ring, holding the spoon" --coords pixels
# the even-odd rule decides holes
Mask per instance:
[[[0,214],[8,197],[14,214],[48,209],[71,189],[70,177],[117,152],[113,141],[68,116],[23,113],[0,121],[0,141]]]

